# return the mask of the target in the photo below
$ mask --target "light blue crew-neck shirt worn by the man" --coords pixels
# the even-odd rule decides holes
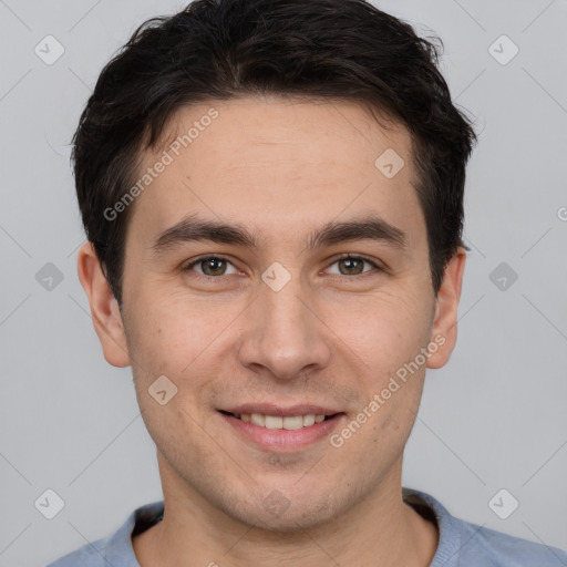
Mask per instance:
[[[424,492],[403,488],[403,499],[437,523],[440,540],[430,567],[567,567],[566,551],[455,518]],[[134,528],[136,534],[150,528],[163,512],[163,501],[141,506],[114,535],[87,544],[48,567],[140,567],[132,533]]]

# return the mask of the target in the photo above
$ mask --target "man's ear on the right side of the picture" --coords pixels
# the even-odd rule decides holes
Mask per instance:
[[[439,344],[439,349],[429,357],[427,368],[444,367],[455,347],[456,316],[465,260],[466,250],[460,246],[445,268],[443,281],[435,299],[435,316],[431,331],[431,341]]]

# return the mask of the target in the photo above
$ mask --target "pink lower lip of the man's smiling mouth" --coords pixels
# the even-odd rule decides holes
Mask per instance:
[[[268,451],[296,451],[327,437],[344,417],[338,413],[320,423],[300,430],[269,430],[251,422],[239,420],[233,415],[220,413],[220,416],[237,430],[245,439]]]

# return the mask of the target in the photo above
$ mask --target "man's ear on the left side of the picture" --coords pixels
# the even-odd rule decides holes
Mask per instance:
[[[94,330],[99,336],[106,361],[113,367],[130,365],[126,334],[118,303],[94,250],[92,243],[79,249],[78,271],[89,298]]]

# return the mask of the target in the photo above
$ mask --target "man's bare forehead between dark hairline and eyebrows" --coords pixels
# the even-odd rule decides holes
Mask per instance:
[[[375,213],[405,227],[410,240],[425,238],[411,137],[385,124],[353,102],[246,97],[184,107],[161,147],[143,155],[137,181],[152,179],[134,203],[128,234],[143,228],[137,237],[150,245],[198,212],[288,239]]]

